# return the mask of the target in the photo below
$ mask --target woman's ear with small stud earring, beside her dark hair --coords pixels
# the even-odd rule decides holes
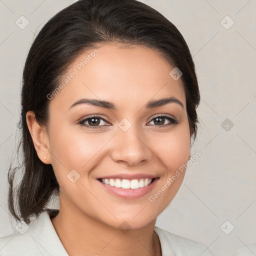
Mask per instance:
[[[33,111],[27,111],[26,123],[29,129],[34,148],[39,159],[46,164],[51,163],[50,151],[49,151],[49,139],[46,131],[46,127],[40,125],[35,118]],[[45,158],[45,159],[44,159]]]

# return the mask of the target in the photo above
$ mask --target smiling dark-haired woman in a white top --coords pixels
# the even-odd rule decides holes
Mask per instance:
[[[18,168],[8,175],[18,232],[0,255],[212,255],[155,227],[182,183],[199,98],[184,38],[146,4],[79,0],[53,16],[24,66],[16,190]]]

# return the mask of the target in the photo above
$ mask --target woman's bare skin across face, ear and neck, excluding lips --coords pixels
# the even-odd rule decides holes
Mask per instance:
[[[37,155],[52,164],[61,187],[60,211],[51,222],[71,256],[126,256],[134,255],[134,251],[137,255],[161,255],[153,231],[156,217],[176,194],[184,172],[154,202],[149,196],[190,157],[181,79],[172,79],[169,72],[173,66],[159,52],[124,46],[109,43],[97,47],[99,52],[50,100],[47,127],[36,122],[32,111],[26,115]],[[79,55],[67,74],[90,52]],[[184,107],[172,102],[145,108],[148,101],[169,96],[176,97]],[[90,104],[69,108],[85,97],[110,101],[117,110]],[[109,122],[101,120],[99,128],[78,124],[92,114]],[[166,125],[168,119],[164,124],[154,122],[160,114],[179,123]],[[127,131],[118,126],[123,118],[131,123]],[[88,120],[84,123],[89,125]],[[74,183],[67,178],[72,169],[80,175]],[[148,173],[159,179],[148,194],[124,199],[106,192],[96,180],[116,173]],[[118,228],[123,221],[130,228],[126,233]]]

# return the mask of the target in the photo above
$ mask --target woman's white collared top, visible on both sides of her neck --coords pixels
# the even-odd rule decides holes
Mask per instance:
[[[0,237],[1,256],[68,256],[50,221],[58,210],[44,210],[28,226],[20,226],[10,235]],[[162,250],[162,256],[212,256],[206,246],[154,227]]]

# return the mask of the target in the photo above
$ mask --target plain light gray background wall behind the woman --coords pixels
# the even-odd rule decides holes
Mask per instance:
[[[13,232],[7,170],[17,142],[25,57],[34,33],[72,2],[0,0],[0,236]],[[201,125],[191,149],[191,155],[199,150],[201,156],[187,169],[181,188],[156,225],[204,243],[214,255],[235,255],[240,246],[256,242],[256,1],[143,2],[166,16],[184,36],[201,93]],[[29,21],[24,29],[15,24],[21,15]],[[226,15],[234,21],[229,29],[221,24]],[[223,22],[231,24],[227,18]],[[226,118],[234,124],[228,131],[221,126]],[[226,220],[234,226],[229,234],[220,228]],[[224,227],[228,230],[230,224]]]

